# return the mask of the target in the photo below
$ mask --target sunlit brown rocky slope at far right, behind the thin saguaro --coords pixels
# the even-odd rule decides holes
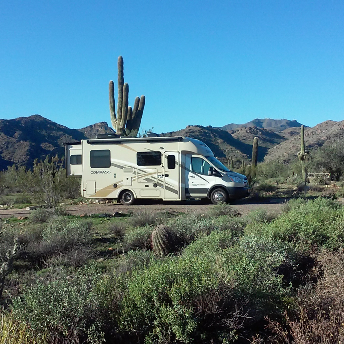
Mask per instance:
[[[284,135],[290,135],[288,139],[269,149],[265,161],[279,160],[288,162],[297,156],[300,150],[300,130],[284,131]],[[326,141],[344,138],[344,121],[325,121],[315,127],[304,129],[305,149],[316,149]]]

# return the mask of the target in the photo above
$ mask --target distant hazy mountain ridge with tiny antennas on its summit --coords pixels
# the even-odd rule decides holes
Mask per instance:
[[[231,130],[235,130],[235,129],[243,128],[243,127],[244,128],[257,127],[261,129],[268,129],[271,131],[280,132],[288,128],[301,127],[301,123],[299,123],[296,120],[290,121],[288,119],[256,118],[244,124],[230,123],[221,127],[221,129],[226,130],[226,131],[231,131]]]

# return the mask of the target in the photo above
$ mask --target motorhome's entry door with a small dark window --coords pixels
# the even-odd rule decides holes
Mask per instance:
[[[164,200],[178,200],[180,198],[179,186],[179,153],[164,152]]]

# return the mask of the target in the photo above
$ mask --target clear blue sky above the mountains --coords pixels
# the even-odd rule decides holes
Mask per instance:
[[[344,119],[344,1],[331,0],[2,1],[0,118],[110,124],[119,55],[129,105],[146,95],[142,129]]]

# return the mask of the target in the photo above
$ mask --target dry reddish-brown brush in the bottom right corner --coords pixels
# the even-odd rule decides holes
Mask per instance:
[[[316,255],[317,283],[302,287],[296,307],[285,313],[286,326],[277,321],[269,323],[277,334],[276,342],[295,344],[325,344],[344,341],[344,254],[322,251]]]

